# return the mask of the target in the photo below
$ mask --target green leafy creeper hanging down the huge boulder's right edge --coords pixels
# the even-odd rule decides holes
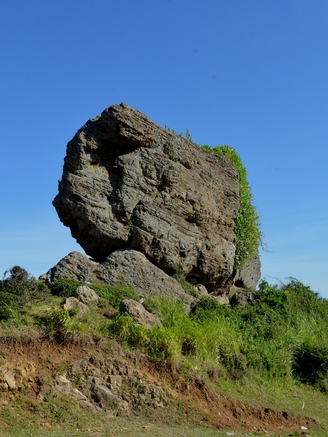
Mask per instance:
[[[237,152],[230,146],[208,145],[204,149],[226,156],[239,173],[240,206],[235,220],[236,255],[235,266],[240,270],[247,259],[257,254],[261,242],[260,217],[253,205],[253,196],[247,179],[247,171]]]

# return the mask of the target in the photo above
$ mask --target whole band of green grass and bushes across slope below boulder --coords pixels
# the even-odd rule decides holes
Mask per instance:
[[[192,287],[181,270],[175,275],[185,287]],[[188,314],[184,302],[149,295],[144,306],[162,322],[161,327],[151,329],[118,313],[122,299],[139,299],[126,284],[90,284],[111,311],[101,304],[80,318],[74,311],[62,309],[60,299],[71,295],[81,285],[79,281],[56,281],[51,286],[55,296],[48,289],[39,290],[52,299],[42,304],[35,294],[36,284],[19,269],[1,281],[1,329],[6,324],[10,327],[17,314],[25,312],[29,318],[21,317],[19,323],[34,323],[63,339],[86,333],[98,339],[114,337],[151,359],[193,372],[219,372],[236,381],[255,377],[286,386],[297,382],[328,391],[328,301],[294,278],[280,285],[262,280],[255,304],[245,308],[222,306],[208,296],[199,299]]]

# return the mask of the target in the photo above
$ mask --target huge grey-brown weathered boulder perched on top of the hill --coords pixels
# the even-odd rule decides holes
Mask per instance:
[[[166,273],[180,267],[209,292],[224,292],[235,276],[238,180],[226,157],[122,103],[68,143],[53,204],[95,261],[134,249]]]

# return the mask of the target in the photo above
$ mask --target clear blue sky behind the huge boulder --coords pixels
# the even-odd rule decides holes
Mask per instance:
[[[0,275],[82,249],[59,221],[67,142],[125,102],[249,173],[262,276],[328,298],[326,0],[0,0]]]

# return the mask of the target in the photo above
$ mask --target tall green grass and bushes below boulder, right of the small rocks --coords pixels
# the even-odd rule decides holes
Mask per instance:
[[[119,316],[110,330],[153,359],[195,371],[299,381],[328,391],[327,301],[295,279],[280,286],[264,281],[256,298],[246,308],[205,298],[187,315],[182,302],[152,296],[145,306],[162,327],[146,329]]]

